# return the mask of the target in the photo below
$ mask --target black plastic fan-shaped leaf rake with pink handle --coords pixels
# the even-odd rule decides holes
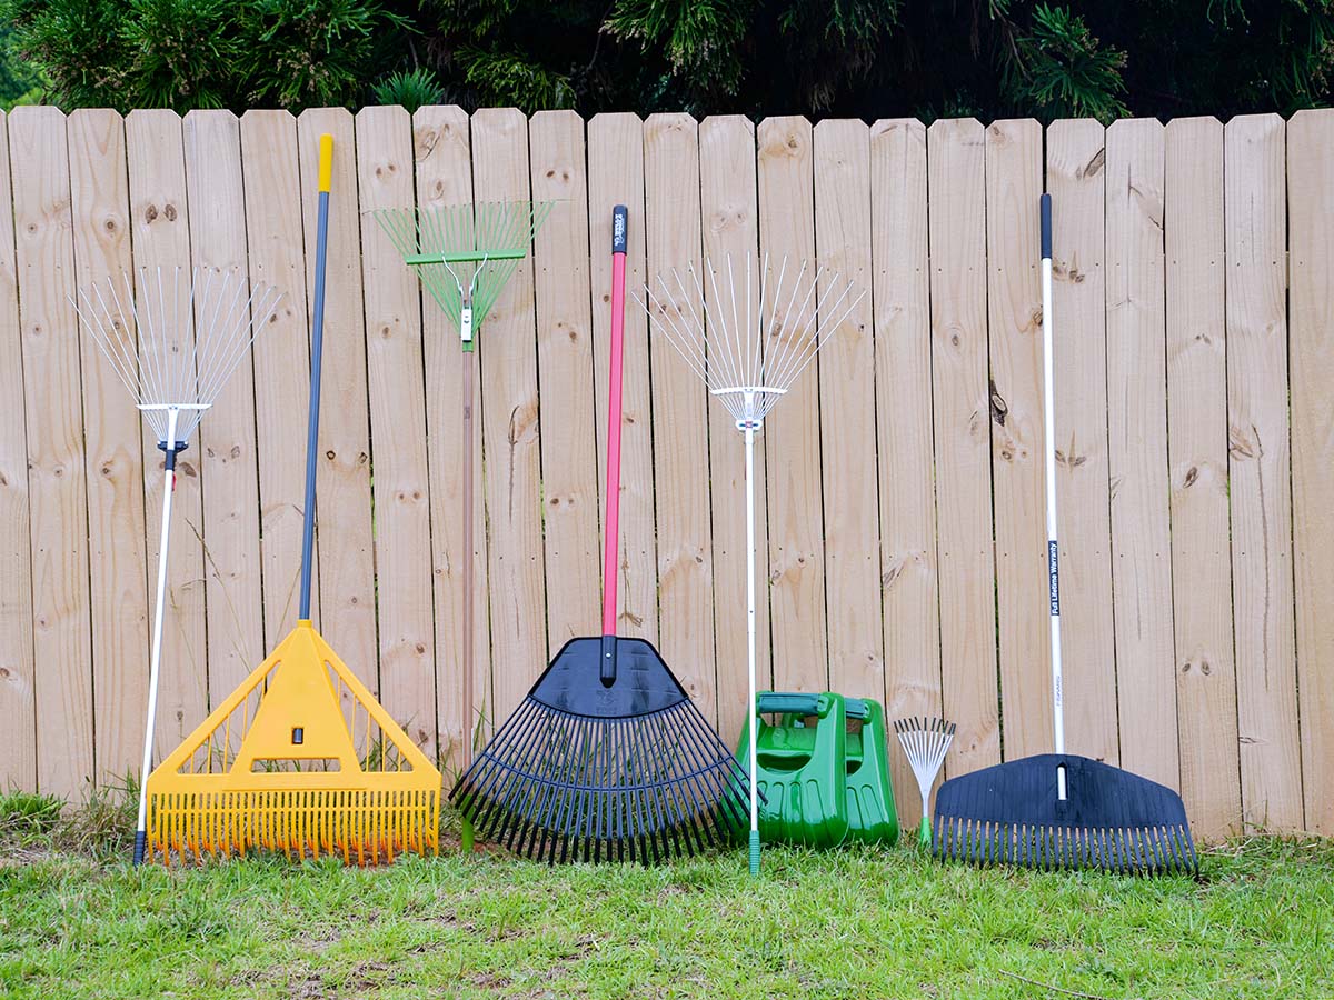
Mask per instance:
[[[491,840],[546,861],[644,864],[735,843],[746,773],[658,651],[616,636],[626,208],[612,220],[603,633],[572,639],[451,797]]]

